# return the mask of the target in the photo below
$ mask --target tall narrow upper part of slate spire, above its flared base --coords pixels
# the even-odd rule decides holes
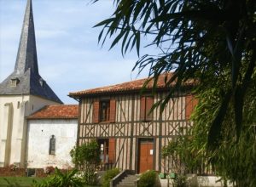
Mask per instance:
[[[17,75],[22,75],[29,68],[32,73],[38,74],[38,57],[32,13],[32,0],[27,0],[26,4],[26,12],[20,36],[20,46],[15,64],[15,73]]]

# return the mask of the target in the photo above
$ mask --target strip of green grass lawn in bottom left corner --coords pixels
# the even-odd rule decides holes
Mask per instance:
[[[33,180],[41,181],[44,178],[28,178],[28,177],[0,177],[0,187],[14,186],[14,187],[29,187],[32,186]]]

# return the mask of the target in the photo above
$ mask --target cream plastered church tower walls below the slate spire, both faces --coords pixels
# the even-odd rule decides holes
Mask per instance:
[[[7,105],[11,105],[9,120],[7,120],[9,116],[6,115]],[[38,111],[44,105],[58,105],[58,103],[28,94],[0,96],[0,167],[13,163],[25,167],[26,116]]]

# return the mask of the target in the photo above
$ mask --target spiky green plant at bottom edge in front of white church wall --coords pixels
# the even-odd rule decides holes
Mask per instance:
[[[36,187],[80,187],[84,185],[82,178],[77,177],[78,170],[73,170],[67,173],[61,173],[61,171],[55,167],[55,174],[50,176],[41,183],[35,182]]]

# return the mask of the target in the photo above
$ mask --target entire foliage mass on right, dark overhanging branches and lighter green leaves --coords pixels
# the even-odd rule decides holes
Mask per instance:
[[[95,0],[95,2],[98,0]],[[194,80],[196,107],[190,150],[207,157],[216,173],[238,186],[256,186],[256,1],[115,0],[101,26],[99,42],[112,37],[121,52],[146,47],[134,68],[149,67],[154,86],[166,76],[170,92],[154,106],[162,111],[177,88]],[[154,50],[155,51],[155,50]],[[175,85],[175,86],[172,86]],[[146,86],[146,85],[145,85]]]

